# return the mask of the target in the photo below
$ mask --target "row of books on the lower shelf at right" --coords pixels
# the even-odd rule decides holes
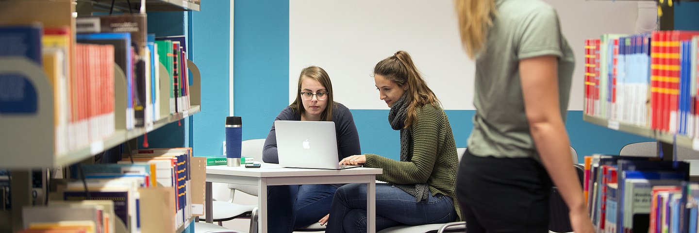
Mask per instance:
[[[586,156],[583,186],[597,232],[697,232],[699,184],[687,162]]]

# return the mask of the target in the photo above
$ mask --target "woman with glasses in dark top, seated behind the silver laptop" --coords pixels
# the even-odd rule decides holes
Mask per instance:
[[[298,76],[296,100],[275,120],[333,121],[338,140],[338,161],[361,153],[359,134],[349,108],[333,101],[333,85],[324,69],[308,66]],[[312,131],[298,132],[313,134]],[[274,129],[267,135],[262,160],[278,163]],[[268,231],[292,232],[316,223],[330,211],[333,194],[340,185],[276,185],[268,188]]]

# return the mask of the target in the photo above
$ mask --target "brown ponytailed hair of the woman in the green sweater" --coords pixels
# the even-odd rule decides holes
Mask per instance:
[[[417,119],[417,111],[426,104],[439,105],[434,92],[420,76],[417,67],[412,63],[408,52],[398,51],[395,55],[383,59],[374,66],[374,75],[384,76],[398,84],[398,87],[408,87],[408,116],[405,118],[405,128],[410,127]]]

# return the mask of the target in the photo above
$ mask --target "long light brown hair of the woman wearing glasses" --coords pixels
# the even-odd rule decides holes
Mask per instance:
[[[301,102],[303,101],[301,99],[301,81],[303,81],[303,78],[310,78],[312,80],[316,80],[318,83],[320,83],[320,85],[323,85],[323,87],[325,87],[325,90],[328,92],[328,98],[326,99],[328,101],[328,104],[325,106],[325,110],[323,111],[323,113],[320,114],[320,120],[333,121],[333,108],[336,105],[335,101],[333,101],[333,83],[331,83],[330,76],[328,76],[328,73],[318,66],[308,66],[301,70],[301,74],[298,75],[298,89],[296,90],[296,100],[294,100],[294,103],[291,103],[291,105],[289,105],[291,109],[293,109],[299,115],[303,115],[303,113],[305,113],[305,108],[303,108],[303,102]]]

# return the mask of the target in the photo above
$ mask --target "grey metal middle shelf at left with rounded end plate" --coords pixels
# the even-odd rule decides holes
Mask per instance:
[[[197,90],[196,93],[193,91],[192,94],[199,94],[199,85],[197,84],[200,80],[199,69],[196,69],[196,64],[192,61],[188,61],[188,64],[189,67],[192,67],[190,71],[192,71],[192,78],[194,80],[190,88],[192,88],[192,90]],[[121,69],[117,66],[115,66],[115,69],[117,70],[115,73],[121,73],[121,75],[116,75],[121,78],[115,78],[121,80],[116,82],[115,92],[123,94],[125,93],[126,80]],[[160,71],[166,72],[164,71],[164,67],[161,67]],[[75,162],[80,162],[88,157],[96,155],[105,149],[113,148],[114,146],[135,139],[147,132],[152,132],[164,125],[182,120],[189,117],[189,115],[201,111],[199,99],[193,98],[192,108],[182,113],[175,113],[174,115],[169,115],[166,118],[157,120],[152,126],[147,128],[134,128],[131,130],[117,128],[113,136],[89,143],[89,146],[83,146],[76,150],[69,150],[66,153],[56,153],[53,144],[55,141],[53,136],[53,129],[55,126],[53,125],[52,115],[54,101],[51,94],[43,94],[52,92],[50,84],[48,83],[48,78],[43,73],[43,69],[26,58],[0,57],[0,73],[22,73],[24,76],[27,76],[36,88],[39,103],[38,113],[36,115],[0,115],[0,127],[7,129],[6,132],[12,132],[11,134],[0,134],[0,148],[3,148],[3,154],[24,155],[21,157],[0,156],[0,164],[6,169],[62,167],[74,164]],[[164,80],[164,82],[167,82],[167,80]],[[119,98],[117,97],[117,99]],[[125,101],[125,97],[122,97],[122,101]],[[163,102],[164,103],[161,105],[167,104],[166,101]],[[119,106],[119,104],[117,104],[117,106]],[[124,104],[122,104],[122,109],[118,109],[117,107],[115,112],[124,112]],[[117,122],[123,122],[123,120],[117,120]]]

